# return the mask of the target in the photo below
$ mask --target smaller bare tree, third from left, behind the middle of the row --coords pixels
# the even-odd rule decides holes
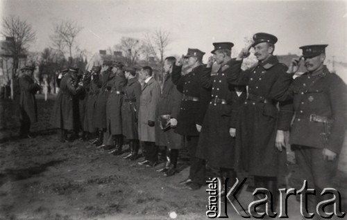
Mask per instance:
[[[121,51],[126,64],[132,66],[137,63],[142,52],[142,42],[132,37],[121,37],[119,44],[115,45],[115,50]]]

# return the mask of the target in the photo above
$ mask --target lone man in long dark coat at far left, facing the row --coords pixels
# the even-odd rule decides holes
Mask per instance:
[[[21,138],[31,138],[31,123],[37,122],[37,104],[35,93],[40,91],[41,86],[35,83],[33,80],[34,70],[35,66],[25,66],[21,69],[22,75],[19,77],[19,120],[21,123],[19,137]]]

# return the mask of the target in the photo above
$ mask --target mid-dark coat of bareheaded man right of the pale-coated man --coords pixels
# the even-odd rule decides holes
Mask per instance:
[[[155,144],[158,146],[167,146],[170,149],[180,149],[183,147],[182,136],[171,128],[168,131],[162,131],[160,128],[160,116],[169,115],[171,118],[178,117],[180,112],[180,102],[182,94],[177,90],[176,85],[171,80],[170,73],[164,76],[164,84],[158,101],[157,122],[155,123]]]

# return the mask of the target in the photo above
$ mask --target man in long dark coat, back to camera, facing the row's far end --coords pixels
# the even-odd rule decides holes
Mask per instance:
[[[83,91],[82,83],[77,83],[78,68],[69,68],[69,72],[62,77],[60,91],[56,98],[51,115],[51,125],[60,129],[58,140],[67,141],[67,131],[76,129],[76,95]]]

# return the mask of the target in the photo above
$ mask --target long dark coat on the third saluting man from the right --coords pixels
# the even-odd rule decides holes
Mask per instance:
[[[233,168],[235,165],[235,138],[230,136],[229,129],[235,128],[239,107],[246,99],[246,87],[228,84],[226,77],[233,65],[234,61],[230,60],[213,76],[212,68],[205,68],[201,77],[203,86],[212,89],[212,100],[205,113],[196,156],[213,167]],[[227,103],[215,102],[216,98]]]

